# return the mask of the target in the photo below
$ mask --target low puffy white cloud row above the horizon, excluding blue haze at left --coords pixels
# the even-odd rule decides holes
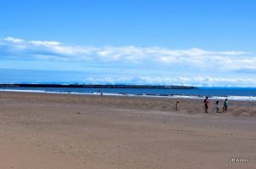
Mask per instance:
[[[95,84],[137,84],[137,85],[183,85],[197,87],[255,87],[256,80],[251,78],[219,78],[202,76],[152,77],[152,76],[105,76],[86,77],[83,82]]]

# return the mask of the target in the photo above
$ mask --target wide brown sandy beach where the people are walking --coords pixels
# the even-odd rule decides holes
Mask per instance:
[[[256,102],[214,104],[1,92],[0,168],[255,168]]]

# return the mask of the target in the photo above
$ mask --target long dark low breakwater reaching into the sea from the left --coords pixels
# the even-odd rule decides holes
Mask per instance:
[[[0,87],[73,87],[73,88],[154,88],[154,89],[196,89],[189,86],[160,86],[160,85],[97,85],[97,84],[0,84]]]

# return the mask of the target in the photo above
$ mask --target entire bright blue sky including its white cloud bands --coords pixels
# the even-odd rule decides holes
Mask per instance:
[[[0,83],[256,87],[254,0],[0,1]]]

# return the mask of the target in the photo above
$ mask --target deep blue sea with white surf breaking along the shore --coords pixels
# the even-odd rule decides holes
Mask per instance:
[[[202,99],[231,99],[256,101],[256,87],[198,87],[196,89],[156,89],[156,88],[86,88],[86,87],[0,87],[0,92],[27,93],[73,93],[119,95],[134,97],[165,97]]]

